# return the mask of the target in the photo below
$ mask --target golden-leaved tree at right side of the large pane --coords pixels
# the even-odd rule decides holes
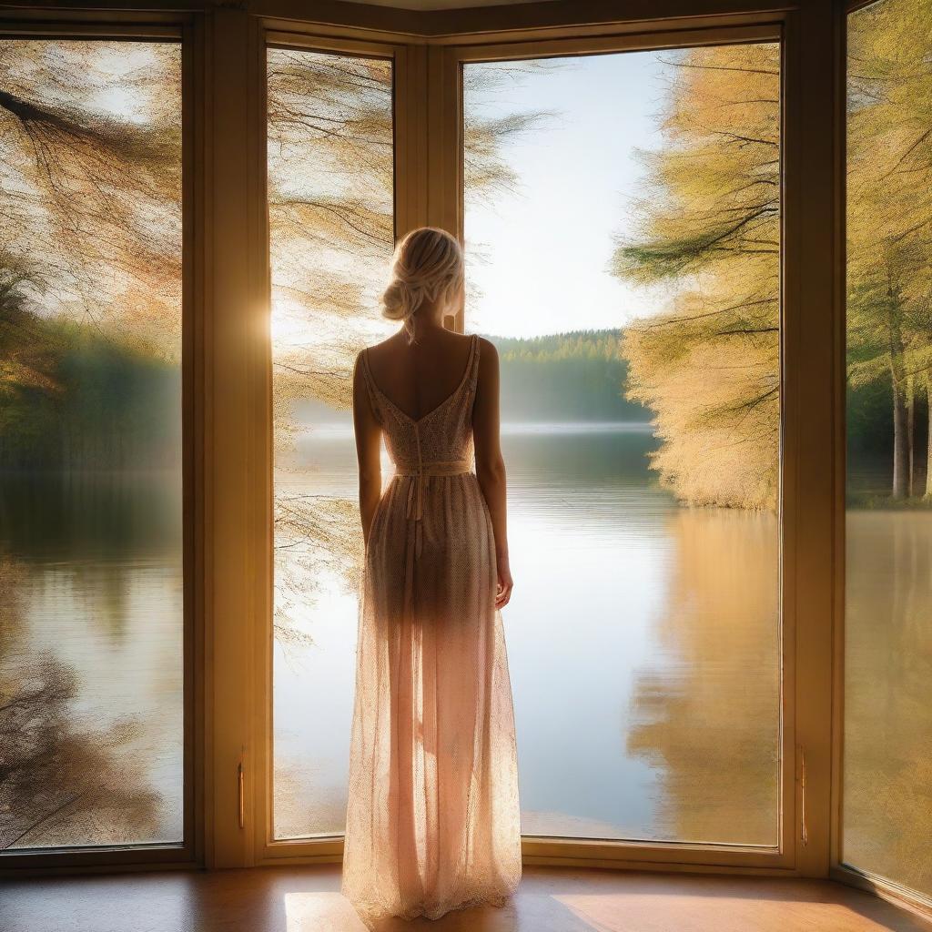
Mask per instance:
[[[629,397],[681,500],[773,508],[780,423],[780,69],[773,44],[671,55],[664,147],[642,154],[635,233],[614,272],[665,286],[625,331]]]

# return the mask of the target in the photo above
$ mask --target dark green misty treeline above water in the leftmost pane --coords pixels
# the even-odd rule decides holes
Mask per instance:
[[[181,451],[177,363],[89,324],[22,308],[0,319],[0,470],[174,468]]]

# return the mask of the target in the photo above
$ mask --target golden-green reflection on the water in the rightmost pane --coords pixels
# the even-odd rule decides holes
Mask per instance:
[[[844,859],[932,895],[932,515],[849,511]]]

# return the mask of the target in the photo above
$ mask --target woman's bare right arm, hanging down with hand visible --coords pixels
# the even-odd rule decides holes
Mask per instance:
[[[508,565],[508,521],[505,505],[505,460],[499,442],[499,353],[483,339],[479,353],[479,384],[473,405],[475,474],[486,497],[495,533],[495,560],[499,589],[495,607],[500,609],[512,597],[512,571]]]

